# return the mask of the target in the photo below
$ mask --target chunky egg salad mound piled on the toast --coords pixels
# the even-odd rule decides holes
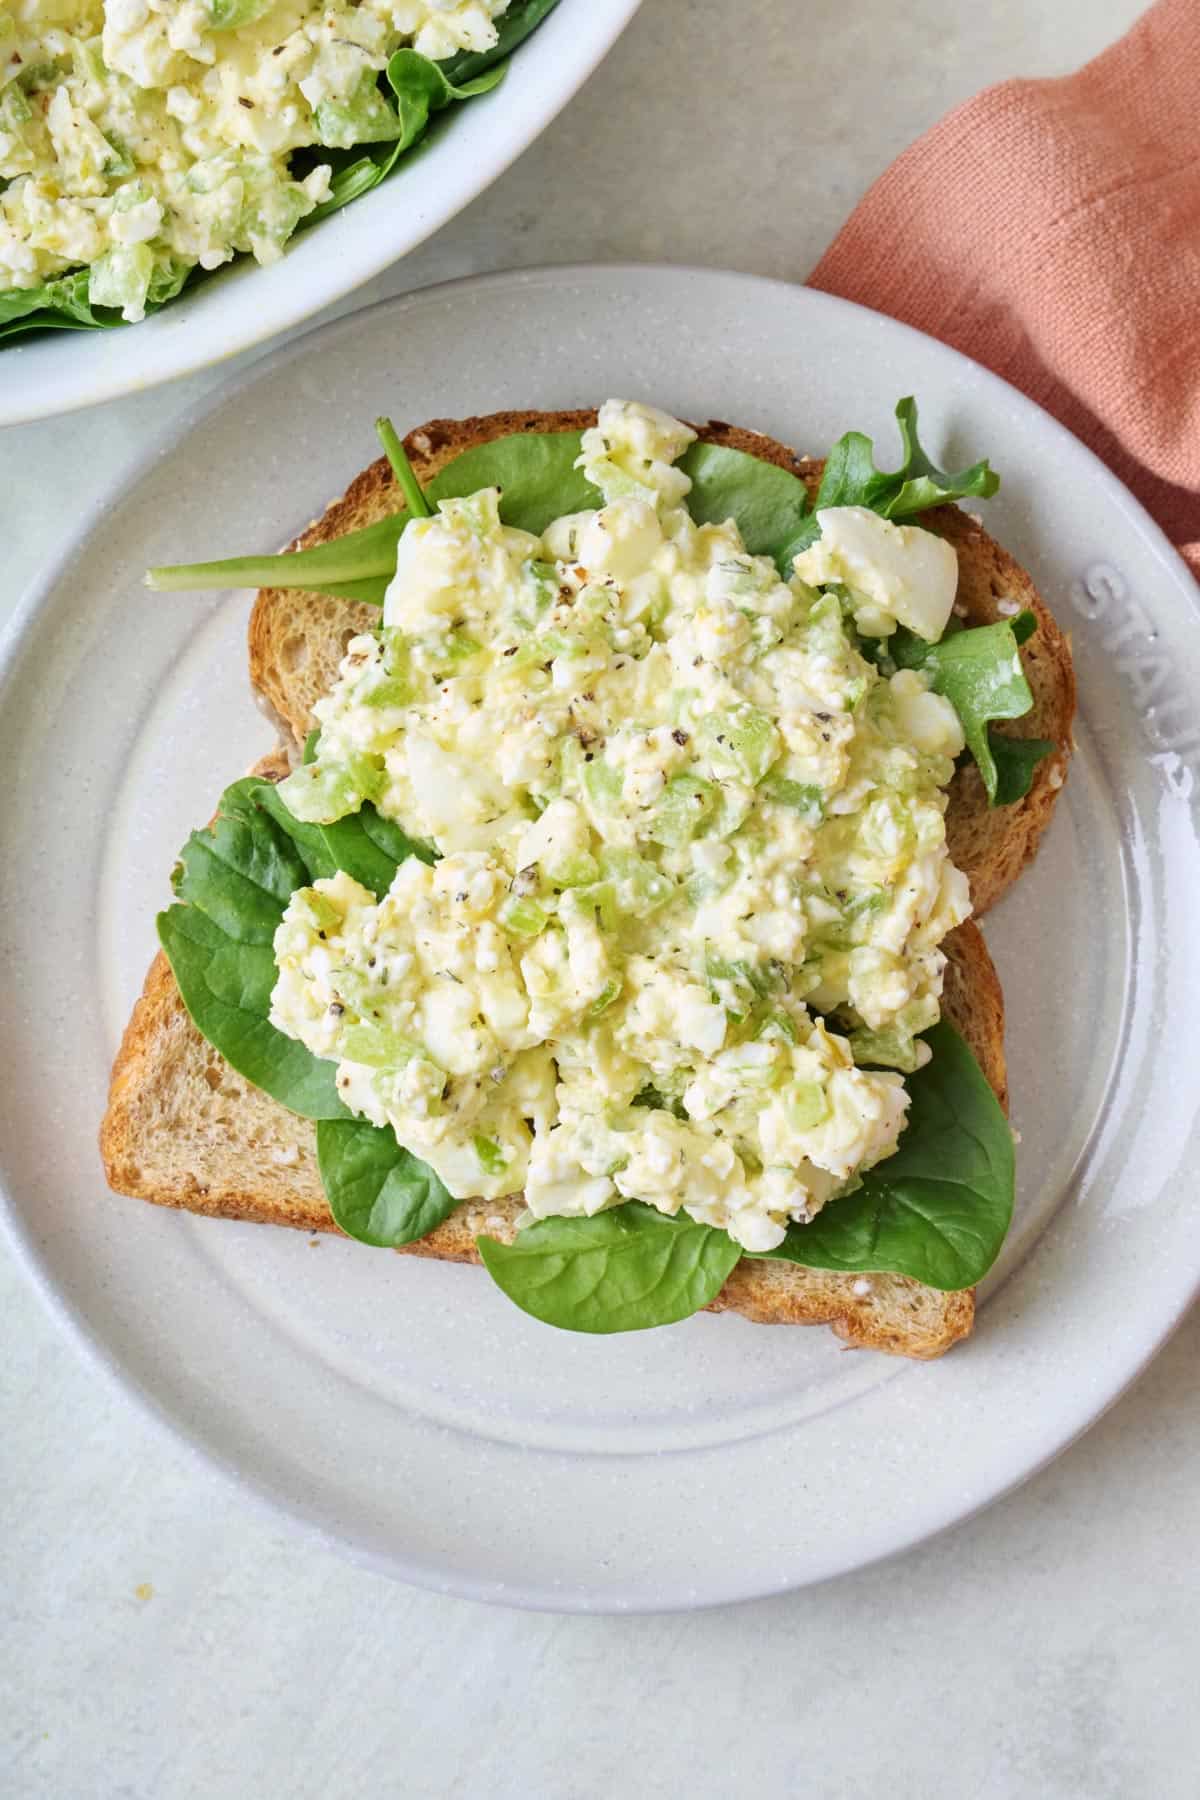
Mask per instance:
[[[761,1251],[896,1148],[970,913],[959,716],[864,653],[939,637],[957,563],[829,508],[784,581],[693,522],[691,441],[608,401],[596,511],[538,538],[493,488],[408,524],[281,794],[371,801],[428,860],[293,893],[272,1022],[455,1197],[639,1199]]]

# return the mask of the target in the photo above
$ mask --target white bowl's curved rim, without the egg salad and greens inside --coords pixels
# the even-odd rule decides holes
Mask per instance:
[[[117,331],[47,331],[0,351],[0,425],[72,412],[205,369],[353,293],[482,194],[612,49],[640,0],[561,0],[500,86],[437,119],[371,194],[293,238],[282,261],[239,257],[166,311]]]

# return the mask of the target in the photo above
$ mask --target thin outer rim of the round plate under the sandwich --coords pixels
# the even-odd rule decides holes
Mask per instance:
[[[1088,475],[1097,481],[1101,493],[1115,504],[1123,515],[1135,526],[1142,542],[1148,549],[1157,554],[1157,560],[1164,567],[1164,572],[1171,576],[1175,585],[1182,589],[1191,599],[1193,612],[1200,616],[1200,587],[1196,585],[1191,569],[1182,560],[1182,556],[1169,544],[1162,529],[1146,513],[1141,502],[1124,488],[1124,484],[1108,470],[1099,457],[1081,445],[1063,425],[1060,425],[1051,414],[1043,412],[1036,401],[1029,400],[1011,383],[1004,382],[1000,376],[975,364],[972,358],[964,356],[961,351],[954,351],[939,340],[928,338],[927,333],[916,331],[910,326],[900,324],[887,315],[874,313],[869,308],[856,306],[855,302],[842,301],[835,295],[820,293],[819,290],[801,288],[795,283],[781,281],[765,275],[745,275],[738,270],[707,270],[689,265],[664,265],[664,263],[563,263],[563,265],[540,265],[536,268],[525,270],[500,270],[484,275],[466,275],[448,283],[437,283],[426,288],[412,290],[410,293],[389,297],[374,302],[369,308],[358,308],[347,315],[329,320],[315,329],[302,333],[299,338],[275,346],[268,355],[257,358],[252,365],[232,371],[210,394],[203,396],[198,403],[185,409],[182,414],[166,419],[155,432],[149,432],[130,464],[122,473],[113,479],[113,482],[97,497],[88,508],[86,515],[79,520],[77,527],[72,531],[68,542],[52,558],[47,567],[34,576],[7,626],[4,639],[0,643],[0,689],[7,686],[16,666],[20,664],[25,650],[31,646],[31,635],[36,630],[38,617],[43,605],[49,601],[52,592],[61,583],[72,560],[77,556],[83,544],[97,529],[103,517],[115,508],[119,508],[135,490],[140,486],[148,472],[160,461],[160,457],[180,445],[196,427],[219,412],[241,389],[252,387],[257,382],[268,382],[275,376],[281,364],[288,364],[300,355],[308,355],[317,338],[333,337],[336,333],[351,333],[362,328],[367,315],[380,311],[403,313],[412,306],[428,304],[432,297],[443,297],[459,290],[488,290],[495,286],[516,286],[529,284],[534,281],[551,283],[579,283],[587,279],[613,279],[626,275],[633,281],[644,275],[651,277],[718,277],[732,279],[736,283],[752,283],[757,288],[770,290],[786,297],[790,302],[797,295],[804,297],[804,304],[811,304],[815,310],[828,310],[831,313],[856,313],[867,320],[885,320],[889,329],[900,331],[921,340],[925,344],[934,342],[937,346],[939,356],[950,358],[948,367],[955,362],[959,365],[970,367],[975,380],[982,380],[984,387],[993,387],[997,394],[1006,396],[1006,400],[1018,407],[1018,410],[1027,410],[1038,418],[1038,423],[1051,432],[1051,437],[1058,437],[1070,445],[1072,454],[1083,452],[1085,466]],[[1180,574],[1184,581],[1180,583]],[[43,1258],[38,1244],[32,1238],[31,1228],[25,1224],[22,1211],[18,1210],[16,1199],[7,1192],[7,1184],[0,1184],[0,1229],[7,1242],[13,1246],[14,1258],[22,1267],[23,1274],[31,1280],[31,1285],[38,1292],[41,1303],[47,1307],[50,1318],[67,1332],[67,1336],[81,1348],[88,1364],[99,1368],[108,1381],[112,1381],[126,1397],[133,1399],[144,1417],[151,1418],[157,1427],[169,1433],[169,1436],[182,1444],[189,1456],[198,1458],[203,1465],[214,1469],[225,1481],[230,1481],[241,1494],[248,1496],[255,1507],[270,1510],[272,1517],[284,1517],[291,1526],[313,1534],[327,1548],[340,1555],[351,1557],[351,1561],[369,1566],[376,1571],[387,1573],[390,1577],[401,1577],[416,1586],[428,1588],[441,1593],[459,1593],[468,1598],[536,1609],[536,1611],[561,1611],[561,1613],[626,1613],[626,1611],[644,1611],[644,1613],[669,1613],[669,1611],[691,1611],[700,1607],[712,1607],[723,1604],[736,1604],[738,1600],[748,1600],[784,1591],[793,1591],[799,1586],[811,1586],[822,1580],[831,1580],[840,1573],[851,1570],[867,1568],[876,1562],[891,1561],[894,1555],[901,1555],[914,1544],[923,1543],[943,1530],[964,1523],[975,1517],[993,1501],[1002,1499],[1011,1494],[1024,1481],[1031,1480],[1043,1467],[1047,1467],[1058,1454],[1061,1454],[1070,1444],[1074,1444],[1090,1426],[1108,1411],[1137,1381],[1142,1370],[1148,1366],[1153,1355],[1162,1348],[1173,1330],[1178,1327],[1180,1319],[1186,1316],[1193,1305],[1196,1294],[1200,1292],[1200,1265],[1191,1271],[1189,1283],[1180,1287],[1175,1303],[1169,1309],[1162,1309],[1159,1303],[1153,1314],[1153,1328],[1144,1336],[1139,1334],[1137,1348],[1124,1359],[1121,1366],[1121,1377],[1115,1384],[1108,1386],[1099,1399],[1094,1395],[1087,1397],[1078,1409],[1070,1413],[1070,1427],[1065,1435],[1058,1436],[1058,1427],[1051,1433],[1052,1442],[1047,1445],[1045,1454],[1036,1458],[1029,1465],[1022,1465],[1013,1472],[1011,1480],[999,1483],[988,1494],[979,1498],[964,1510],[955,1510],[952,1516],[945,1517],[932,1530],[916,1525],[896,1543],[874,1550],[865,1557],[846,1557],[837,1568],[829,1568],[824,1573],[808,1579],[784,1577],[774,1586],[765,1586],[756,1582],[748,1588],[738,1588],[736,1584],[725,1584],[723,1591],[711,1595],[642,1595],[640,1598],[615,1600],[612,1595],[601,1595],[599,1602],[590,1597],[587,1589],[563,1591],[560,1588],[547,1589],[538,1586],[536,1580],[525,1582],[520,1589],[506,1588],[498,1593],[495,1582],[480,1580],[466,1571],[455,1570],[450,1577],[439,1575],[432,1566],[412,1561],[401,1552],[378,1552],[371,1546],[354,1543],[349,1537],[338,1535],[329,1525],[315,1514],[315,1510],[302,1503],[293,1501],[290,1496],[273,1487],[266,1478],[250,1472],[246,1467],[239,1465],[234,1458],[223,1454],[210,1438],[198,1438],[189,1433],[187,1426],[169,1409],[167,1404],[158,1400],[158,1397],[146,1386],[140,1373],[135,1373],[131,1366],[124,1366],[121,1357],[104,1343],[103,1336],[92,1328],[92,1325],[83,1318],[79,1305],[58,1287],[49,1260]],[[1031,1246],[1029,1255],[1033,1255]],[[1013,1271],[1016,1274],[1016,1271]],[[1150,1323],[1150,1321],[1148,1321]]]

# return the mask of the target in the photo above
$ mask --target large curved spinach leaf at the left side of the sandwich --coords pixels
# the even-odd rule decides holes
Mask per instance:
[[[407,855],[430,857],[374,806],[309,826],[273,783],[246,776],[225,790],[216,819],[193,832],[175,873],[178,904],[158,914],[158,940],[201,1037],[248,1082],[304,1118],[347,1118],[335,1064],[270,1022],[277,968],[272,941],[288,900],[345,869],[385,893]]]

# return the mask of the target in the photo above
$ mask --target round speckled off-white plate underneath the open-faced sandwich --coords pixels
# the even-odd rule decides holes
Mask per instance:
[[[453,355],[446,351],[453,346]],[[146,563],[268,549],[374,455],[380,410],[644,396],[822,450],[990,454],[988,524],[1074,634],[1079,754],[988,920],[1020,1210],[937,1364],[696,1318],[590,1339],[473,1269],[112,1197],[106,1071],[187,830],[270,742],[246,596]],[[696,270],[466,281],[338,320],[178,427],[27,601],[0,711],[0,1172],[59,1316],[248,1489],[408,1580],[561,1609],[687,1607],[896,1552],[1020,1481],[1121,1391],[1200,1274],[1196,589],[1067,432],[943,346]]]

